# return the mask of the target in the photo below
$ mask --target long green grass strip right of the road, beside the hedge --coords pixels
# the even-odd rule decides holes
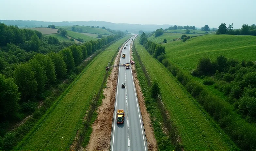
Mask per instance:
[[[177,79],[145,48],[138,43],[136,49],[150,77],[157,79],[162,100],[181,135],[184,150],[231,150],[235,144]]]

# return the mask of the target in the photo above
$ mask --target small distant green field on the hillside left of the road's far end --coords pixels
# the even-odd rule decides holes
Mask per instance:
[[[57,29],[63,28],[66,30],[71,31],[73,26],[56,26]],[[83,29],[83,33],[91,33],[91,34],[109,34],[112,35],[112,33],[110,33],[109,31],[102,29],[102,28],[91,28],[88,26],[75,26],[76,28],[82,28]]]

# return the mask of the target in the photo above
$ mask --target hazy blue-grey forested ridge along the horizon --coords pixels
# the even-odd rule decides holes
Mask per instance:
[[[127,24],[127,23],[112,23],[107,21],[61,21],[61,22],[49,22],[49,21],[9,21],[9,20],[0,20],[7,25],[18,25],[19,27],[47,27],[50,24],[55,26],[72,26],[72,25],[79,25],[79,26],[99,26],[99,27],[106,27],[113,30],[127,30],[128,32],[138,33],[139,30],[143,31],[155,31],[158,28],[168,28],[173,25],[140,25],[140,24]]]

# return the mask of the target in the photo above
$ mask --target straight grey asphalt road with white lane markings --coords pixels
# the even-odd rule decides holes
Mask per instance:
[[[132,38],[134,39],[135,36]],[[122,49],[120,64],[130,63],[132,38],[127,41],[126,44],[128,44],[128,46],[125,44],[124,47],[126,47],[126,49]],[[126,54],[125,58],[122,58],[123,53]],[[121,88],[123,82],[125,83],[125,89]],[[125,120],[123,124],[116,123],[116,113],[118,109],[123,109],[125,112]],[[148,150],[131,67],[130,69],[125,69],[123,66],[119,67],[113,118],[110,144],[111,151]]]

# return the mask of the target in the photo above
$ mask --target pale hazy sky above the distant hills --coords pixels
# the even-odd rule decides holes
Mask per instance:
[[[210,28],[256,24],[256,0],[0,0],[0,20],[108,21]]]

